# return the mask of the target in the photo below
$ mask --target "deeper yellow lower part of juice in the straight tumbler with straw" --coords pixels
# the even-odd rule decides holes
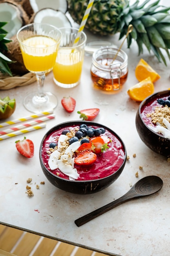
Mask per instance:
[[[82,65],[83,60],[77,63],[68,63],[67,65],[55,62],[55,65],[53,67],[54,78],[59,83],[77,83],[82,73]]]

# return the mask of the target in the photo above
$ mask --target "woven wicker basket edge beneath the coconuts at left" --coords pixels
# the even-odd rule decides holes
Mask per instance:
[[[35,74],[31,72],[23,76],[9,76],[0,73],[0,90],[9,90],[15,87],[29,85],[35,81]]]

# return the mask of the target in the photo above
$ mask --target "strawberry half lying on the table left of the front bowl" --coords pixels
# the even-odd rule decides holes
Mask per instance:
[[[30,139],[26,139],[26,137],[24,137],[22,141],[18,140],[18,141],[15,141],[15,143],[16,143],[16,148],[21,155],[24,155],[24,157],[28,157],[28,158],[33,157],[34,155],[33,141],[31,141]]]

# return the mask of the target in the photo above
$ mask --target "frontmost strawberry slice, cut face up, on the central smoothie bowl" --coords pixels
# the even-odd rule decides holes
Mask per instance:
[[[93,164],[97,159],[97,155],[90,150],[84,150],[77,157],[75,157],[74,162],[78,165],[90,165]]]

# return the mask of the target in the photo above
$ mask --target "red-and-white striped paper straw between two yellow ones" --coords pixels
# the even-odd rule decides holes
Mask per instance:
[[[27,122],[25,124],[20,124],[18,126],[14,126],[12,128],[9,128],[9,129],[6,129],[6,130],[2,130],[2,131],[0,131],[0,136],[8,134],[10,132],[16,132],[18,130],[21,130],[21,129],[33,126],[35,124],[40,124],[40,123],[42,123],[44,121],[48,121],[48,120],[53,119],[53,118],[55,118],[55,114],[52,114],[52,115],[49,115],[49,116],[45,116],[45,117],[40,117],[39,119],[36,119],[35,121],[34,120],[33,121],[29,121],[29,122]]]

